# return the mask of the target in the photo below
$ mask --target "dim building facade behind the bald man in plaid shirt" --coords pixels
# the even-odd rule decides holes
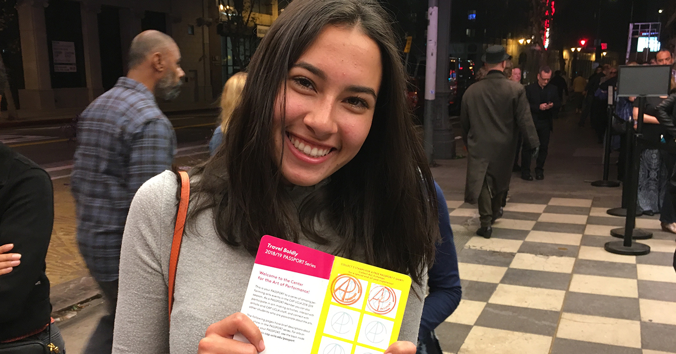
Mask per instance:
[[[186,73],[180,96],[161,102],[162,109],[215,107],[225,80],[243,70],[281,11],[276,0],[238,3],[17,0],[24,82],[15,99],[19,117],[86,107],[126,73],[132,39],[149,29],[174,38]],[[247,21],[236,31],[222,26],[233,16]]]

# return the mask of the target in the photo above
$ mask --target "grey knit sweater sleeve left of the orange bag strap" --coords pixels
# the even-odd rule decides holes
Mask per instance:
[[[114,354],[169,353],[168,263],[175,191],[172,172],[145,182],[135,195],[122,236]]]

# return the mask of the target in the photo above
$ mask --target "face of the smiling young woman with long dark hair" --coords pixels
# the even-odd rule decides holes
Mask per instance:
[[[274,110],[276,160],[286,182],[312,186],[345,166],[364,144],[382,76],[378,45],[359,28],[327,26],[289,70]]]

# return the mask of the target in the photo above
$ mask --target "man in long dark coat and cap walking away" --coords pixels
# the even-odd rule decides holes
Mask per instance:
[[[502,201],[512,178],[518,132],[537,153],[539,140],[523,85],[502,73],[509,59],[493,45],[483,55],[489,72],[462,97],[460,123],[467,147],[465,201],[479,204],[479,236],[491,237],[491,224],[502,216]]]

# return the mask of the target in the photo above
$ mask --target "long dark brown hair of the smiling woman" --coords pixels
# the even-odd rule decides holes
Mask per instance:
[[[406,78],[390,21],[376,0],[295,0],[283,11],[251,58],[222,145],[191,172],[198,177],[189,215],[193,226],[198,213],[212,209],[220,238],[251,255],[264,234],[294,242],[304,234],[325,245],[328,229],[337,234],[336,255],[363,257],[422,284],[439,237],[437,199],[406,105]],[[286,90],[291,66],[329,25],[356,26],[375,41],[383,78],[364,145],[297,207],[274,153],[273,134],[285,136],[284,114],[282,130],[273,130],[274,104],[279,90]]]

